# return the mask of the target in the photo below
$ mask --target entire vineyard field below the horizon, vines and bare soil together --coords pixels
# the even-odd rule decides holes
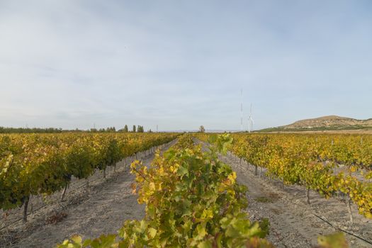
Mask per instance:
[[[372,245],[369,135],[1,138],[1,247]]]

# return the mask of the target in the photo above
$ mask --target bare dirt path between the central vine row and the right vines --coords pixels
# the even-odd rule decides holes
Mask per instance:
[[[346,204],[337,198],[325,199],[316,192],[310,192],[310,205],[306,204],[305,188],[283,186],[280,181],[269,180],[254,175],[254,167],[239,161],[233,154],[220,156],[220,160],[230,164],[237,172],[237,181],[248,187],[249,206],[247,212],[251,220],[269,218],[270,233],[267,237],[275,247],[314,247],[318,235],[337,232],[336,228],[320,220],[363,237],[372,242],[372,221],[352,209],[354,224],[349,223]],[[345,234],[346,235],[346,234]],[[352,235],[346,235],[349,247],[372,247]]]

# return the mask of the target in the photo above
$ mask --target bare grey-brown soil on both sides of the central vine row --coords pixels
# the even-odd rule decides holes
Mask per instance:
[[[169,144],[163,147],[167,149]],[[206,146],[205,146],[206,147]],[[143,156],[143,157],[142,157]],[[140,154],[142,162],[149,165],[153,154]],[[140,158],[139,157],[139,158]],[[135,157],[127,158],[127,162]],[[248,187],[247,213],[251,220],[269,218],[270,233],[267,237],[276,247],[313,247],[318,235],[336,232],[339,227],[347,232],[372,242],[372,221],[357,213],[353,206],[354,224],[349,222],[349,213],[342,198],[326,200],[316,192],[310,192],[311,204],[306,204],[305,188],[283,186],[280,181],[254,176],[254,167],[240,163],[232,154],[220,156],[237,172],[237,181]],[[129,163],[128,163],[129,164]],[[137,196],[131,193],[130,184],[134,176],[129,173],[124,162],[117,165],[117,171],[102,179],[96,175],[84,187],[84,181],[77,181],[76,190],[67,191],[66,201],[59,203],[60,193],[55,199],[29,216],[25,225],[21,221],[13,223],[0,232],[0,247],[55,247],[55,244],[74,234],[84,238],[98,237],[102,233],[115,233],[124,220],[141,219],[145,206],[137,203]],[[36,198],[38,200],[38,198]],[[38,200],[39,201],[39,200]],[[34,204],[38,204],[35,201]],[[18,211],[18,212],[17,212]],[[330,222],[334,227],[317,216]],[[9,224],[21,216],[21,210],[14,210],[1,225]],[[372,247],[352,235],[347,235],[350,247]]]

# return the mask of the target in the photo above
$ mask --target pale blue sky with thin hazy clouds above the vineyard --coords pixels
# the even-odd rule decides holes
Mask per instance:
[[[371,1],[0,0],[0,126],[372,118]]]

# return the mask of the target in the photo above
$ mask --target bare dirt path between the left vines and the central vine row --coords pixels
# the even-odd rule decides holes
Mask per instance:
[[[167,150],[173,142],[165,145]],[[150,165],[154,154],[144,156],[143,164]],[[129,158],[133,161],[135,157]],[[127,158],[128,162],[128,158]],[[129,166],[124,162],[117,164],[117,171],[106,180],[89,186],[89,190],[72,195],[67,191],[67,203],[52,205],[51,211],[43,210],[36,216],[30,216],[28,224],[13,227],[10,235],[16,239],[13,244],[0,244],[0,247],[55,247],[57,243],[74,234],[84,239],[98,237],[101,234],[116,233],[124,220],[142,219],[145,205],[137,203],[130,185],[135,176],[130,174]],[[50,223],[52,222],[52,223]]]

